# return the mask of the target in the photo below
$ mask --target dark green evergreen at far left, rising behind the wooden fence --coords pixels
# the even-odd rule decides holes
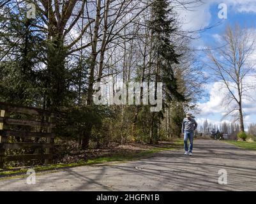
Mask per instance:
[[[1,101],[32,105],[38,96],[34,67],[40,62],[38,50],[43,39],[33,32],[31,22],[15,11],[0,18],[0,42],[4,45],[0,56],[3,58],[0,64]]]

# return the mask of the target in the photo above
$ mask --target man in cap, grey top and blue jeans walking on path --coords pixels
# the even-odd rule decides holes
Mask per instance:
[[[192,113],[186,113],[186,117],[183,119],[182,123],[182,133],[184,135],[184,155],[192,156],[193,149],[193,136],[194,131],[197,129],[197,122],[192,118]],[[188,150],[188,139],[190,140],[190,148]]]

